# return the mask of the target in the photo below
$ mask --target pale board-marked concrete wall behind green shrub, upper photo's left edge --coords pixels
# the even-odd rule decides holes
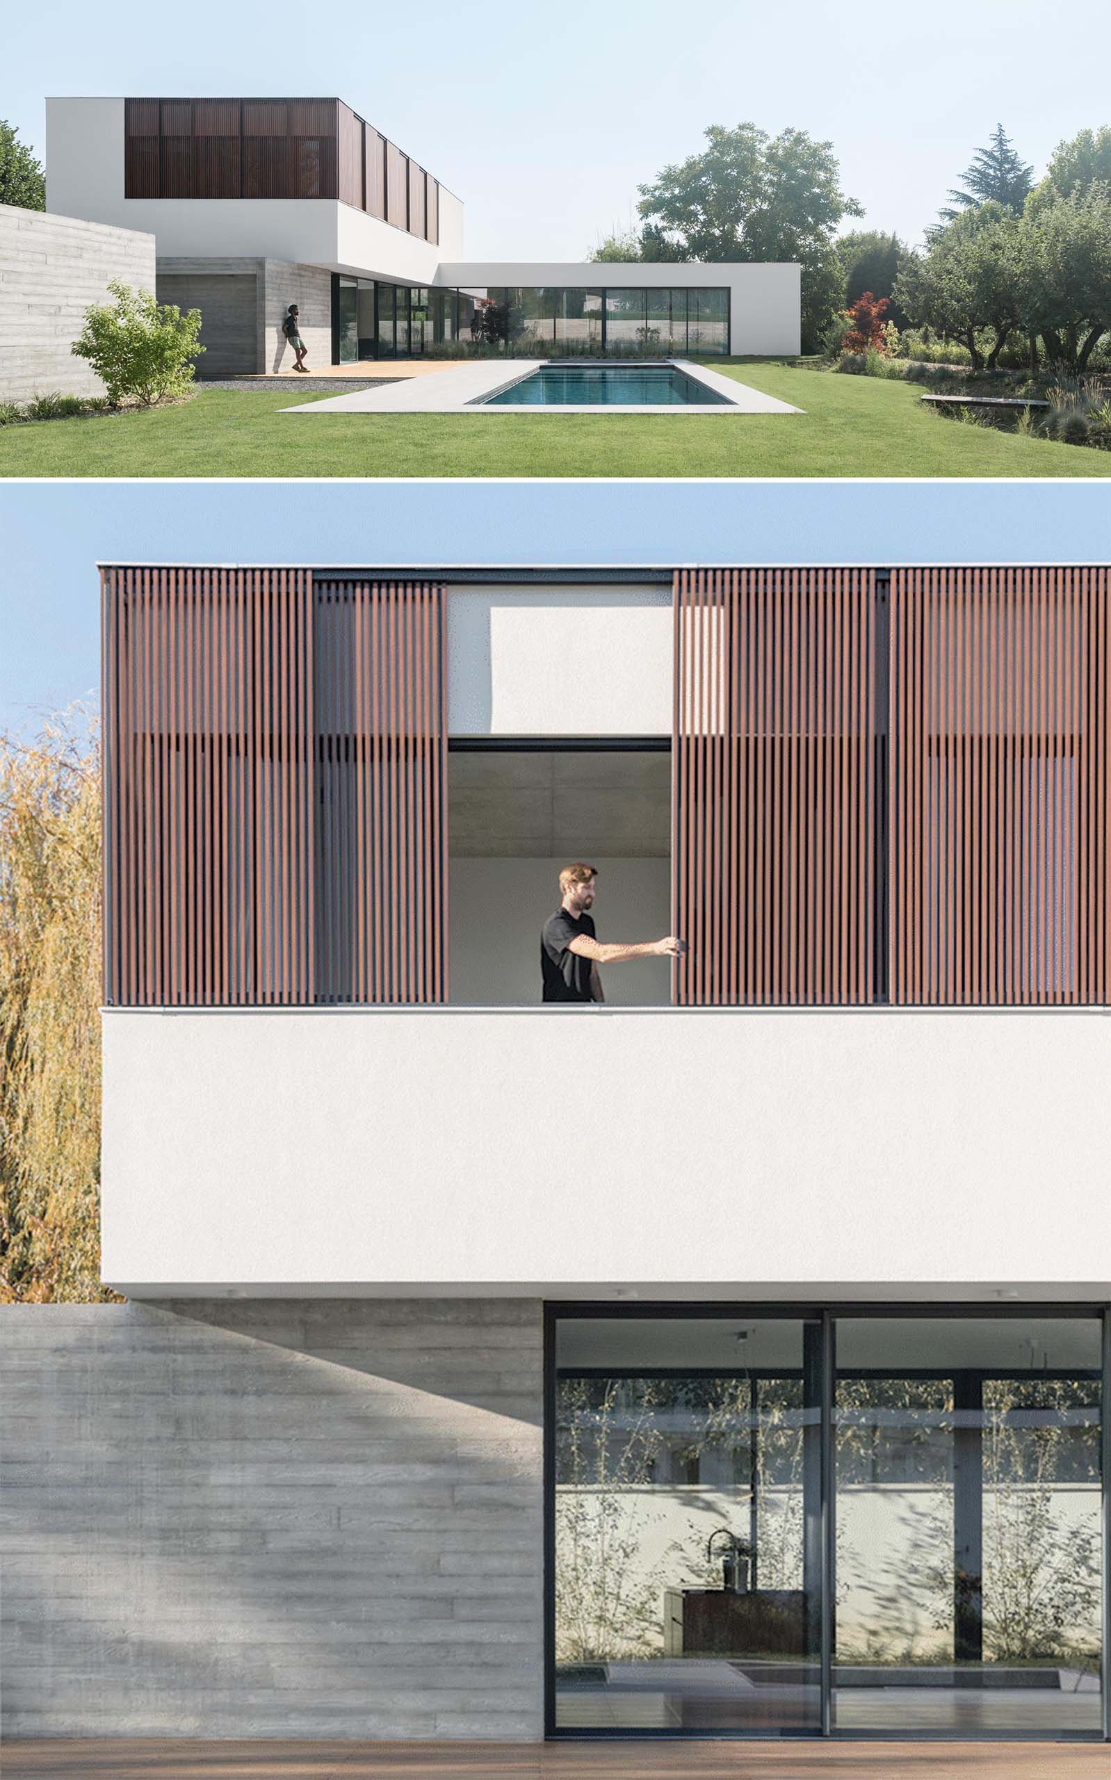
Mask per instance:
[[[0,205],[0,400],[103,393],[69,349],[114,278],[155,288],[153,235]]]

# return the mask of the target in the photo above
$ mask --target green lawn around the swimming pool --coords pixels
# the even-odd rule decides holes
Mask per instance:
[[[0,429],[0,475],[1111,475],[1111,452],[944,420],[913,383],[721,365],[803,415],[320,415],[201,390]],[[317,397],[319,399],[319,397]]]

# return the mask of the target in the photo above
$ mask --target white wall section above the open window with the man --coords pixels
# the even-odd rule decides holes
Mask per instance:
[[[452,587],[452,735],[669,735],[671,587]]]

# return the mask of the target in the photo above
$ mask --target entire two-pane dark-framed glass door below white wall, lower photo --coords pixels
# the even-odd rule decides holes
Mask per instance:
[[[556,1734],[1100,1737],[1104,1315],[548,1312]]]

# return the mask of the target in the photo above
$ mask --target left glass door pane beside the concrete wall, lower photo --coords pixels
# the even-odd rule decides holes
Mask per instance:
[[[561,1319],[559,1730],[821,1728],[821,1324]]]

